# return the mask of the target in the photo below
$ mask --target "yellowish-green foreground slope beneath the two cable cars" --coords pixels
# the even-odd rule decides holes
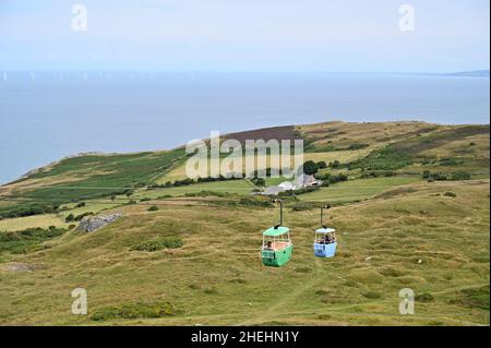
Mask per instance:
[[[0,322],[489,324],[489,181],[412,188],[407,195],[334,208],[330,225],[339,232],[334,260],[312,255],[318,212],[289,212],[295,257],[282,269],[264,268],[259,260],[260,232],[274,224],[276,209],[196,208],[189,202],[151,213],[127,206],[124,218],[103,230],[67,232],[49,241],[47,250],[7,256]],[[456,196],[446,196],[450,191]],[[169,236],[181,238],[183,247],[132,251],[142,241]],[[34,272],[9,272],[12,262]],[[88,291],[88,317],[70,314],[75,287]],[[421,299],[414,316],[397,312],[397,292],[405,287]],[[109,314],[163,302],[170,303],[171,316],[121,320]]]

